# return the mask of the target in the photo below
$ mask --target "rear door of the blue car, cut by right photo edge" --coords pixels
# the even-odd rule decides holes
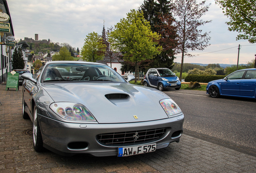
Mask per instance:
[[[247,70],[240,84],[240,94],[246,97],[255,97],[256,70]]]

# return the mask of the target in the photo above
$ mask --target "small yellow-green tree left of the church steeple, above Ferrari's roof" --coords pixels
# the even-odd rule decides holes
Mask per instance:
[[[86,37],[80,52],[82,60],[89,62],[102,60],[106,51],[106,45],[103,43],[101,36],[96,32],[91,32]]]

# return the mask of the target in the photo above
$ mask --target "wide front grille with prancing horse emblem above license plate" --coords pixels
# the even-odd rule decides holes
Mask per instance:
[[[108,145],[141,143],[156,140],[161,137],[165,133],[165,131],[166,128],[159,128],[141,131],[105,133],[97,135],[97,139],[99,142]]]

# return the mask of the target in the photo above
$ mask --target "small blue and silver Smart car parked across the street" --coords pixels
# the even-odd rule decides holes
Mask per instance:
[[[150,68],[145,75],[143,85],[158,88],[160,91],[166,89],[179,90],[181,82],[169,68]]]

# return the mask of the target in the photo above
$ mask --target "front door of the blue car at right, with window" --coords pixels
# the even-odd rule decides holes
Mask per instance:
[[[240,84],[245,70],[236,71],[224,78],[221,82],[221,94],[223,95],[240,95]]]

